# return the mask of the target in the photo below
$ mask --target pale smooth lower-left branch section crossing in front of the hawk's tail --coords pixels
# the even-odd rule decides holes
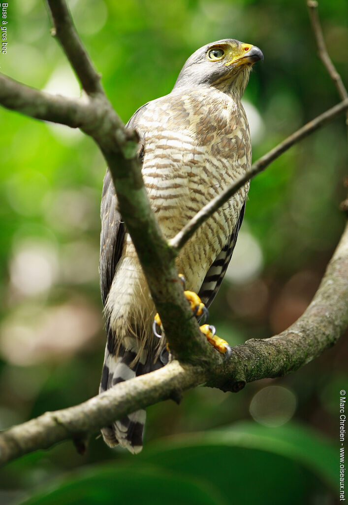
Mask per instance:
[[[167,399],[170,391],[185,390],[204,381],[197,367],[177,361],[122,382],[80,405],[46,412],[37,419],[0,433],[0,464],[62,440],[80,439],[130,412]]]

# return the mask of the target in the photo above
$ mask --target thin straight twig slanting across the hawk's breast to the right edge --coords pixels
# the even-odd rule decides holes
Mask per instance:
[[[212,214],[214,214],[219,207],[221,207],[231,196],[233,196],[244,184],[255,175],[265,170],[268,165],[284,153],[289,147],[299,142],[301,139],[307,137],[310,133],[318,128],[324,126],[331,121],[334,117],[341,114],[341,112],[348,109],[348,98],[327,110],[320,116],[312,119],[305,126],[297,130],[292,135],[289,135],[283,142],[280,142],[276,147],[271,149],[269,153],[262,156],[256,163],[252,165],[250,170],[246,172],[243,177],[237,179],[234,184],[231,184],[221,194],[215,196],[207,205],[205,205],[185,226],[184,228],[173,237],[169,243],[173,249],[179,251],[183,245],[192,237],[195,231],[206,221]]]

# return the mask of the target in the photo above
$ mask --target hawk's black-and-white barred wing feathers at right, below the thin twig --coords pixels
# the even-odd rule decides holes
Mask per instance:
[[[234,231],[228,238],[227,242],[221,249],[220,253],[217,255],[214,263],[209,268],[203,280],[201,289],[198,292],[198,296],[201,298],[206,307],[209,307],[211,305],[213,299],[215,298],[221,286],[222,279],[226,273],[228,264],[230,262],[233,250],[237,242],[238,232],[242,226],[244,211],[245,211],[245,203],[243,204],[243,207],[241,209]]]

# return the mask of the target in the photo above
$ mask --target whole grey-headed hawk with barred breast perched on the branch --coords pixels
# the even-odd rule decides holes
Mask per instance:
[[[165,96],[140,107],[126,128],[140,139],[139,160],[152,211],[166,239],[251,166],[250,131],[241,98],[259,47],[222,39],[200,47]],[[249,183],[216,211],[180,250],[176,267],[209,307],[221,285],[241,227]],[[100,289],[107,343],[99,392],[165,365],[164,339],[152,332],[156,313],[107,169],[101,198]],[[104,427],[110,447],[143,446],[145,410]]]

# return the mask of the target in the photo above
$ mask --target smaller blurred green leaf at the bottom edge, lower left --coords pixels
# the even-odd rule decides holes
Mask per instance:
[[[134,459],[133,459],[134,461]],[[209,482],[139,464],[89,467],[21,502],[22,505],[226,505]]]

